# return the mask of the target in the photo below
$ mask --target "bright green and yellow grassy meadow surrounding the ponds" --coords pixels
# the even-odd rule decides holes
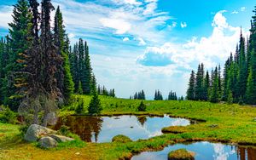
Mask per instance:
[[[90,96],[84,99],[84,114]],[[0,159],[124,159],[141,151],[156,151],[177,142],[208,140],[240,145],[256,146],[256,108],[227,104],[212,104],[197,101],[154,101],[145,100],[146,111],[137,111],[141,100],[114,99],[100,96],[102,115],[155,115],[169,114],[172,117],[187,117],[201,120],[187,127],[167,127],[165,133],[148,140],[127,143],[63,144],[58,149],[42,150],[20,139],[19,126],[0,123]],[[73,105],[61,109],[60,115],[74,114]]]

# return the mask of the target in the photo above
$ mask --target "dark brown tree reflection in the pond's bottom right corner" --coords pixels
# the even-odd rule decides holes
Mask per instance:
[[[256,149],[251,147],[248,147],[248,148],[237,147],[237,159],[256,160]]]

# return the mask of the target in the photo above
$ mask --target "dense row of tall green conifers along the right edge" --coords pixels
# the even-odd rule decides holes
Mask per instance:
[[[229,103],[256,105],[256,7],[251,20],[250,37],[242,33],[236,46],[236,53],[230,54],[221,76],[220,66],[205,73],[203,64],[191,72],[188,100],[227,101]]]

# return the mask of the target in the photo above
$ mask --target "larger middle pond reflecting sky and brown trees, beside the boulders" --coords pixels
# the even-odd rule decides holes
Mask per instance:
[[[59,119],[54,129],[61,125],[70,127],[74,134],[79,134],[87,142],[110,142],[113,136],[124,134],[131,140],[148,139],[162,134],[161,129],[168,126],[186,126],[190,122],[184,118],[116,116],[82,117],[70,116]]]

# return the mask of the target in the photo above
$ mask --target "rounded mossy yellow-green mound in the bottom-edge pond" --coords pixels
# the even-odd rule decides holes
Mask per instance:
[[[185,149],[171,151],[168,154],[168,160],[195,160],[195,153]]]

